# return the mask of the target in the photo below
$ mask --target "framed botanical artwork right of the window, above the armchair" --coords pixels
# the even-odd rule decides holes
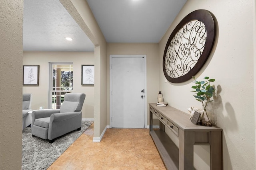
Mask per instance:
[[[94,85],[94,65],[82,65],[82,85]]]

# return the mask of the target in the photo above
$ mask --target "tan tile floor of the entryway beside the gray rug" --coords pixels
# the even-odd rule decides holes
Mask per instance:
[[[166,170],[148,129],[107,129],[92,142],[93,124],[48,170]]]

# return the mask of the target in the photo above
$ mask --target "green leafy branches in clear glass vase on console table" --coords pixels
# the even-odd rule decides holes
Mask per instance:
[[[204,80],[197,81],[194,76],[192,76],[195,82],[195,86],[192,86],[191,92],[196,92],[195,95],[193,95],[197,101],[202,103],[203,106],[203,113],[202,113],[202,120],[200,121],[201,125],[211,126],[212,123],[208,117],[207,114],[207,105],[208,103],[212,102],[213,100],[210,100],[210,98],[213,97],[213,92],[215,91],[214,86],[211,85],[211,82],[214,82],[215,79],[210,79],[209,77],[204,77]],[[207,119],[204,118],[204,114],[206,115]]]

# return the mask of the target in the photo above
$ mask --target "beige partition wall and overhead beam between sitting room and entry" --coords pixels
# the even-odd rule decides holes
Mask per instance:
[[[74,20],[95,45],[94,65],[94,139],[99,141],[106,129],[106,40],[85,0],[60,0]],[[71,4],[69,3],[71,2]]]

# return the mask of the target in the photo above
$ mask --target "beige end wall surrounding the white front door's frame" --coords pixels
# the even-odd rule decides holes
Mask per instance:
[[[110,55],[147,55],[147,102],[157,102],[158,94],[158,75],[159,75],[159,58],[158,58],[158,43],[108,43],[107,44],[107,124],[110,125],[109,118],[109,56]],[[148,107],[148,106],[147,106]],[[149,115],[149,109],[148,113]],[[149,125],[149,116],[148,122]]]

